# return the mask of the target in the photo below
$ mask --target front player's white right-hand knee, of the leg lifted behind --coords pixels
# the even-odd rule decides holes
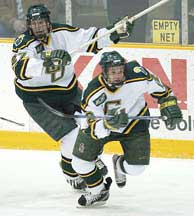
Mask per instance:
[[[142,174],[144,170],[146,169],[145,165],[131,165],[131,164],[128,164],[126,161],[124,161],[123,166],[124,166],[125,172],[133,176]]]

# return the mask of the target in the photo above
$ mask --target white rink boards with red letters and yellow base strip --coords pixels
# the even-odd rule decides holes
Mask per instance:
[[[194,158],[194,47],[154,46],[144,44],[114,45],[97,55],[82,53],[74,57],[80,86],[99,73],[98,61],[104,51],[119,51],[127,60],[137,60],[173,88],[178,97],[184,120],[173,129],[161,121],[150,126],[153,157]],[[58,150],[60,144],[52,141],[28,116],[21,100],[15,95],[14,73],[11,70],[11,41],[1,40],[0,117],[25,124],[24,127],[0,120],[0,148]],[[3,53],[3,55],[2,55]],[[152,115],[159,115],[157,102],[146,96]],[[2,103],[3,102],[3,103]],[[106,153],[121,152],[118,143],[105,146]]]

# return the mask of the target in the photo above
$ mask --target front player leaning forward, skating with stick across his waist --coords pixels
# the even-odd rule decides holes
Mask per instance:
[[[123,155],[113,155],[116,184],[124,187],[126,174],[141,174],[150,160],[149,120],[129,116],[149,116],[144,93],[160,104],[165,124],[173,127],[182,120],[182,113],[172,90],[137,61],[126,62],[116,51],[105,52],[100,63],[102,73],[85,89],[82,109],[88,116],[73,150],[72,166],[85,180],[89,193],[83,194],[81,206],[104,204],[109,198],[111,179],[106,182],[95,165],[103,146],[119,141]],[[96,119],[96,116],[110,116]]]

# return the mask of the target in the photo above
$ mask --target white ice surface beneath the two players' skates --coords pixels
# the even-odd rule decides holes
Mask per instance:
[[[103,207],[77,208],[60,152],[0,150],[0,216],[194,216],[194,160],[156,159]],[[102,157],[113,177],[111,155]]]

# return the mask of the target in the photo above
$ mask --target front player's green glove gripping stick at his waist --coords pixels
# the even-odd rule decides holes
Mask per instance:
[[[128,115],[125,109],[114,108],[109,110],[107,115],[113,116],[108,119],[104,119],[104,127],[110,130],[117,130],[122,127],[126,127],[128,124]]]

